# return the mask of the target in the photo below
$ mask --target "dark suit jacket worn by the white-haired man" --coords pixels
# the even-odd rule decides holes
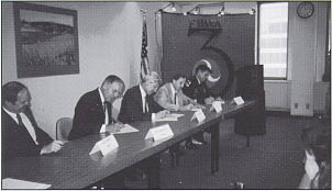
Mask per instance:
[[[146,100],[148,104],[148,113],[143,113],[140,86],[135,86],[126,90],[122,99],[118,120],[122,123],[130,123],[133,121],[150,121],[152,113],[163,110],[163,108],[153,100],[153,96],[148,96]]]

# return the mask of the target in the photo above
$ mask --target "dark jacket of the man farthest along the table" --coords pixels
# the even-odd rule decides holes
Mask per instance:
[[[187,97],[193,100],[197,99],[197,102],[199,104],[204,104],[206,98],[209,98],[210,96],[214,97],[212,96],[209,88],[207,87],[207,83],[206,82],[198,83],[198,80],[195,76],[186,81],[182,91]]]

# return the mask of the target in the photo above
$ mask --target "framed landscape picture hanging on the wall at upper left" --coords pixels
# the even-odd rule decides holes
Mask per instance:
[[[77,11],[13,2],[18,78],[79,74]]]

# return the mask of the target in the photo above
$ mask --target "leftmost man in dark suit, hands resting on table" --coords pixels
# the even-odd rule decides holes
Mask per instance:
[[[2,158],[38,156],[58,151],[63,143],[43,132],[30,110],[27,88],[11,81],[2,86]]]

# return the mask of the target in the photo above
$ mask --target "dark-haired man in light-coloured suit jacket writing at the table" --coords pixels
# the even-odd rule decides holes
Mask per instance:
[[[182,92],[186,82],[185,75],[176,75],[171,78],[171,82],[162,86],[155,94],[155,101],[166,110],[170,111],[190,111],[195,108],[203,108],[195,100],[190,99]],[[191,138],[190,138],[191,139]],[[197,144],[190,139],[187,141],[186,147],[197,148]]]

